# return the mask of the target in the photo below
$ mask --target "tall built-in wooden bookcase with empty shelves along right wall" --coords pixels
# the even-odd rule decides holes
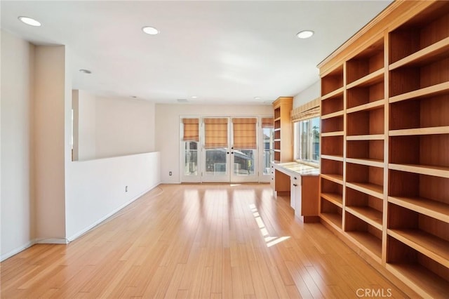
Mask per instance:
[[[323,223],[447,297],[449,2],[395,1],[319,67]]]

